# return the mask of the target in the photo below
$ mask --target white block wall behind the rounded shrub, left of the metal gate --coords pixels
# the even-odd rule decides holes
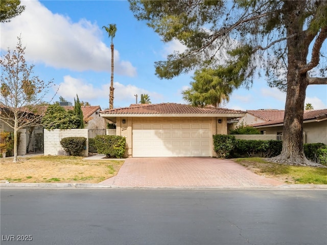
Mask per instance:
[[[88,138],[87,129],[54,129],[44,130],[44,156],[57,156],[58,152],[64,151],[61,147],[60,140],[66,137],[85,137]],[[82,152],[83,156],[88,156],[88,140],[86,140],[86,150]]]

